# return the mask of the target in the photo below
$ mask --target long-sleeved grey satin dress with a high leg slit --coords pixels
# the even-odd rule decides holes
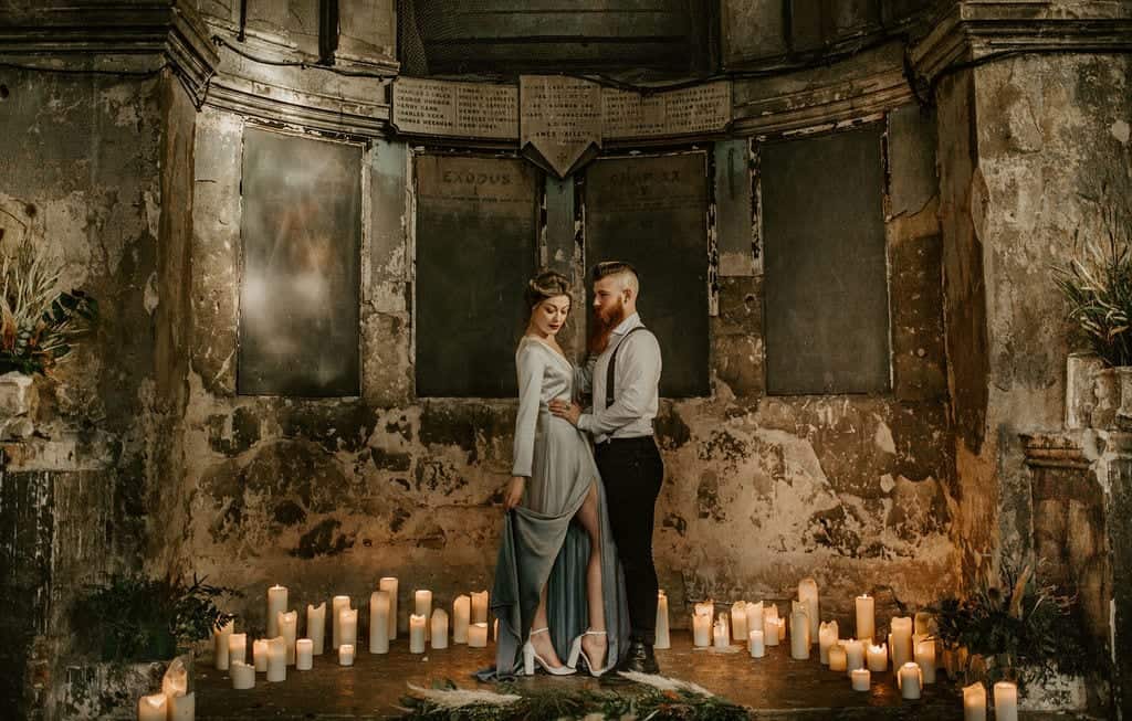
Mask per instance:
[[[512,474],[528,476],[520,505],[507,513],[496,563],[491,610],[499,619],[496,676],[522,672],[521,650],[531,632],[542,585],[547,618],[558,657],[589,627],[585,570],[590,536],[574,515],[591,486],[598,490],[601,524],[601,589],[604,598],[608,659],[628,645],[625,580],[609,527],[604,488],[585,433],[554,416],[548,403],[573,394],[574,367],[550,346],[524,337],[515,351],[518,414]],[[490,677],[489,671],[482,677]]]

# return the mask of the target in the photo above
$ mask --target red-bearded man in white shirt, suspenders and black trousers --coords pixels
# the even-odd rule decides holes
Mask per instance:
[[[632,625],[621,670],[657,674],[657,568],[652,527],[664,464],[653,440],[660,382],[660,345],[636,311],[640,280],[632,266],[598,263],[593,281],[590,359],[581,391],[593,391],[591,412],[551,401],[550,411],[588,432],[606,487],[609,522],[625,570]]]

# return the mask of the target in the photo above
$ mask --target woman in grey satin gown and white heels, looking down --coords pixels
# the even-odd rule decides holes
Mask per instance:
[[[531,319],[515,351],[514,464],[491,593],[499,619],[494,675],[530,675],[535,663],[567,675],[585,660],[600,676],[626,648],[628,610],[590,441],[547,406],[573,397],[575,368],[556,339],[571,310],[569,283],[547,271],[524,297]]]

